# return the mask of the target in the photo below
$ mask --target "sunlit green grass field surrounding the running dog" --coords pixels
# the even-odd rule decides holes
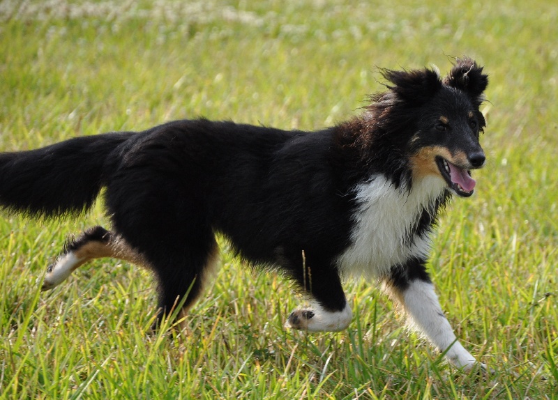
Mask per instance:
[[[0,219],[2,399],[558,399],[558,4],[553,1],[0,1],[0,151],[178,118],[317,129],[382,90],[377,67],[490,75],[488,155],[430,270],[493,376],[449,367],[373,282],[340,333],[283,328],[301,299],[222,241],[181,337],[149,335],[149,273],[103,260],[40,293],[63,222]],[[0,179],[2,177],[0,176]]]

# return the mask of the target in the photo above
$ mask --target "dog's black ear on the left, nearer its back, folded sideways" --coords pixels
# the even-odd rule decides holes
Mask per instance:
[[[423,104],[442,89],[442,80],[435,70],[409,70],[395,71],[382,70],[382,76],[391,82],[386,87],[400,100],[412,102],[412,104]]]

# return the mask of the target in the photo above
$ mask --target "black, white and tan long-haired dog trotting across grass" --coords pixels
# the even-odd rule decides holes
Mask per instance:
[[[0,154],[0,206],[28,217],[78,215],[105,187],[112,230],[68,240],[43,290],[113,257],[153,271],[158,317],[184,316],[211,279],[221,233],[241,259],[280,270],[308,295],[286,326],[340,331],[346,275],[378,282],[455,367],[479,363],[456,339],[426,270],[452,195],[474,192],[488,75],[475,61],[380,70],[385,91],[361,115],[315,132],[183,120],[144,132],[75,137]],[[483,364],[481,364],[483,365]]]

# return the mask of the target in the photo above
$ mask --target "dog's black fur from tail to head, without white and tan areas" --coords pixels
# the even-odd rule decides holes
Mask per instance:
[[[280,268],[322,307],[342,310],[337,260],[353,243],[357,185],[385,176],[411,190],[412,155],[432,145],[478,153],[485,125],[478,107],[488,79],[472,60],[443,80],[428,69],[383,75],[387,91],[363,116],[317,132],[199,119],[2,153],[0,206],[31,217],[80,213],[106,187],[114,234],[156,272],[165,311],[187,291],[185,305],[199,294],[217,232],[243,259]],[[456,121],[458,139],[432,128],[441,113]],[[403,239],[430,233],[449,197],[426,204]],[[400,288],[429,282],[424,264],[412,257],[384,278]]]

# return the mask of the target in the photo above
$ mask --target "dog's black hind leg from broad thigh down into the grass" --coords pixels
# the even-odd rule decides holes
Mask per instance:
[[[142,254],[158,281],[153,328],[168,316],[180,320],[186,314],[218,255],[197,165],[177,171],[186,157],[169,150],[179,144],[164,133],[135,149],[105,194],[114,231]]]

